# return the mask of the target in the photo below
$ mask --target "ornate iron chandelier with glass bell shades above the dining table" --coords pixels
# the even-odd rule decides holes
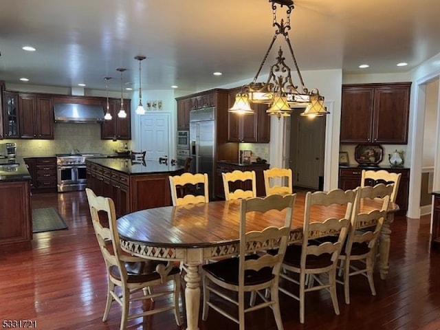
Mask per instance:
[[[250,103],[264,103],[270,107],[267,109],[269,115],[276,115],[278,118],[289,116],[292,113],[292,107],[300,107],[303,105],[306,107],[305,111],[301,115],[307,115],[309,117],[322,116],[329,113],[324,107],[324,97],[319,94],[318,89],[307,89],[304,84],[303,76],[301,76],[298,63],[294,56],[294,50],[289,39],[290,26],[290,14],[294,9],[294,1],[292,0],[269,0],[272,3],[273,23],[272,26],[276,28],[274,37],[267,49],[263,61],[260,64],[258,71],[252,80],[252,83],[245,85],[241,89],[241,93],[236,94],[235,102],[230,112],[234,113],[253,113],[254,111],[250,107]],[[286,6],[286,21],[281,19],[278,21],[276,17],[276,10],[278,8]],[[283,50],[278,50],[278,56],[276,57],[276,63],[271,65],[269,76],[265,82],[259,82],[259,74],[265,65],[267,56],[269,56],[272,47],[277,39],[281,35],[284,37],[285,43],[289,48],[290,55],[292,56],[296,73],[300,80],[300,87],[294,85],[292,80],[292,72],[290,67],[285,63],[285,57],[283,56]]]

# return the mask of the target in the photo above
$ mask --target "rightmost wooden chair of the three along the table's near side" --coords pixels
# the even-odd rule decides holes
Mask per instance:
[[[360,274],[366,276],[371,294],[376,295],[373,280],[376,245],[392,193],[393,184],[377,184],[374,187],[358,188],[351,217],[351,227],[346,244],[339,256],[340,272],[343,273],[343,277],[342,281],[338,280],[338,283],[344,285],[345,303],[347,305],[350,303],[350,276]],[[378,198],[383,200],[382,208],[371,210],[368,213],[360,213],[361,201]],[[358,230],[360,226],[367,229],[360,231]]]

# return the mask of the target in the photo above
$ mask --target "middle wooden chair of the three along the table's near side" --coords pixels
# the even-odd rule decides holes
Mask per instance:
[[[304,323],[305,293],[327,289],[331,296],[333,309],[339,315],[338,297],[336,296],[336,269],[338,256],[342,249],[347,231],[349,230],[353,204],[354,190],[333,189],[329,192],[307,192],[305,197],[305,213],[303,223],[303,241],[301,245],[289,245],[283,261],[283,272],[280,276],[285,280],[299,285],[298,296],[285,287],[280,291],[299,300],[300,322]],[[326,217],[326,208],[339,204],[344,205],[345,212],[338,218]],[[338,234],[336,241],[331,239],[316,241],[316,237],[331,237]],[[292,273],[299,274],[299,281],[292,277]],[[327,274],[327,281],[318,274]],[[306,276],[309,283],[306,287]],[[314,283],[318,285],[314,285]]]

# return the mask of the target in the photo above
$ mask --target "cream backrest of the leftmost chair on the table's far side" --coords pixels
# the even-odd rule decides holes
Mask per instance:
[[[206,173],[184,173],[182,175],[170,176],[169,178],[173,206],[209,202],[208,175]],[[203,195],[188,194],[183,197],[178,197],[177,189],[184,187],[186,184],[192,184],[194,186],[197,184],[203,184]]]

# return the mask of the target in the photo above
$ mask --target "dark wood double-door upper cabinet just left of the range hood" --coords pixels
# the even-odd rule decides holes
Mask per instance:
[[[54,138],[54,110],[50,96],[19,94],[19,119],[20,137]]]

